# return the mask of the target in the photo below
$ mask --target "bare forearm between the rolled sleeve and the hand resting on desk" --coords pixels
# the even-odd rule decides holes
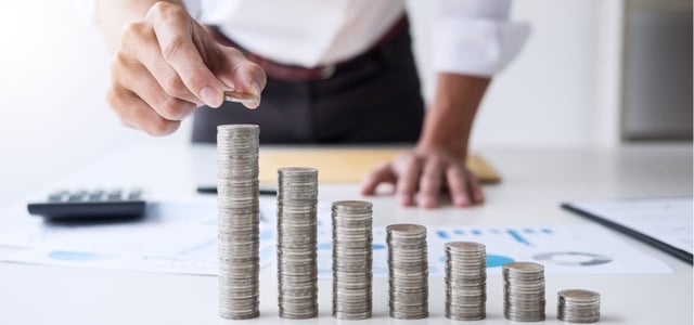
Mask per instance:
[[[434,102],[424,119],[420,146],[465,155],[475,115],[491,79],[439,73]]]

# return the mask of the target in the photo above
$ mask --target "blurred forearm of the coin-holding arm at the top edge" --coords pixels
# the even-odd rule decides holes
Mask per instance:
[[[97,20],[111,52],[115,52],[120,47],[120,34],[124,26],[142,20],[156,2],[159,0],[97,1]],[[166,2],[183,5],[181,0],[167,0]]]

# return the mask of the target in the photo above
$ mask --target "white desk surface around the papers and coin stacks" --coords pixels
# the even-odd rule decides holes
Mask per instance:
[[[368,198],[374,203],[375,224],[404,220],[432,225],[523,220],[577,224],[589,221],[560,209],[561,202],[692,196],[691,144],[639,145],[613,151],[488,150],[480,153],[504,176],[502,183],[485,187],[485,206],[421,210],[398,207],[391,197],[380,195]],[[196,161],[209,157],[214,157],[213,147],[136,148],[90,165],[80,173],[105,183],[151,184],[152,190],[167,192],[169,196],[190,196],[195,195],[195,169],[201,168]],[[70,183],[69,179],[65,182]],[[321,200],[349,198],[359,198],[356,185],[320,187]],[[0,216],[0,226],[24,222],[25,218]],[[692,324],[692,266],[629,237],[624,239],[664,261],[674,273],[548,275],[548,321],[541,324],[563,324],[556,321],[554,292],[569,287],[594,288],[602,294],[601,324]],[[261,278],[261,317],[244,324],[293,323],[277,317],[277,283],[272,270],[264,269]],[[444,280],[432,278],[429,283],[432,316],[407,323],[450,323],[444,317]],[[301,322],[338,323],[330,316],[331,282],[321,280],[319,286],[320,317]],[[387,318],[386,291],[386,280],[375,278],[374,317],[363,324],[406,323]],[[237,322],[217,316],[217,278],[213,276],[0,263],[0,324],[226,323]],[[490,276],[487,320],[475,324],[509,323],[502,314],[501,277]]]

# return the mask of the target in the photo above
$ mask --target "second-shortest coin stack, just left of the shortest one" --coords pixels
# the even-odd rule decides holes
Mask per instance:
[[[532,262],[503,264],[503,315],[514,322],[544,321],[544,266]]]

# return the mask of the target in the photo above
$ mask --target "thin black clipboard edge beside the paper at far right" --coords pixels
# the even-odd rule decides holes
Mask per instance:
[[[629,235],[633,238],[637,238],[645,244],[648,244],[657,249],[660,249],[689,264],[692,264],[692,253],[689,251],[684,251],[680,248],[677,248],[672,245],[669,245],[667,243],[664,243],[661,240],[658,240],[657,238],[651,237],[646,234],[643,234],[634,229],[631,229],[629,226],[626,226],[624,224],[617,223],[615,221],[611,221],[605,219],[604,217],[601,217],[596,213],[592,213],[586,209],[581,209],[580,207],[578,207],[577,205],[570,204],[570,203],[564,203],[562,204],[562,208],[569,210],[571,212],[578,213],[579,216],[586,217],[592,221],[595,221],[600,224],[606,225],[608,227],[612,227],[618,232],[621,232],[626,235]]]

